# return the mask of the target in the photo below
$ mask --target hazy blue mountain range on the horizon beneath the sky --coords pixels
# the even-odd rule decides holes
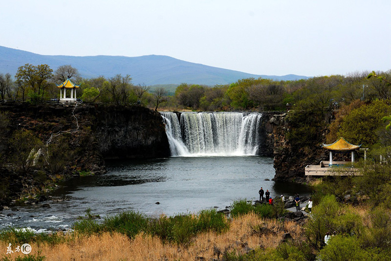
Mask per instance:
[[[32,52],[0,46],[0,73],[14,75],[19,66],[25,64],[47,64],[53,70],[60,65],[72,65],[83,77],[103,75],[112,77],[116,74],[130,74],[133,84],[167,85],[167,84],[230,84],[244,78],[273,80],[299,80],[309,77],[288,74],[284,76],[256,75],[234,70],[222,69],[208,65],[190,63],[164,55],[126,56],[65,56],[40,55]]]

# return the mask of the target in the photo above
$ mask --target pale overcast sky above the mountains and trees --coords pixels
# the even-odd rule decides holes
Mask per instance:
[[[0,45],[254,74],[391,69],[391,0],[3,0]]]

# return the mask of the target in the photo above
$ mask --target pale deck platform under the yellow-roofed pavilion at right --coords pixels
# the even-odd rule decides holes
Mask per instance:
[[[349,161],[333,161],[333,165],[329,166],[328,161],[322,161],[319,165],[307,165],[305,167],[306,176],[348,176],[348,175],[361,175],[361,172],[357,168],[352,168]]]

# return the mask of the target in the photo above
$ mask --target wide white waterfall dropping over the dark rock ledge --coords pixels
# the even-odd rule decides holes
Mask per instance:
[[[256,155],[261,113],[161,112],[172,156]]]

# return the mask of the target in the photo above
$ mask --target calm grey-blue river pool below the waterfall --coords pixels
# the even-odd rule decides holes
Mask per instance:
[[[274,174],[273,158],[259,156],[113,161],[108,163],[106,174],[76,177],[60,184],[52,199],[43,202],[50,204],[49,209],[40,203],[16,207],[18,211],[3,210],[0,228],[69,229],[86,209],[101,217],[125,210],[172,216],[214,206],[223,209],[240,198],[259,199],[261,186],[272,197],[309,193],[299,184],[271,181]],[[59,198],[65,200],[56,202]],[[160,204],[155,204],[157,201]]]

